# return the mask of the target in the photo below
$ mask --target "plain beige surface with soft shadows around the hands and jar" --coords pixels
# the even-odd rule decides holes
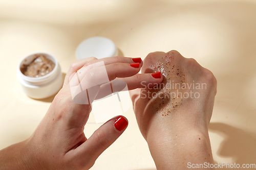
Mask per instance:
[[[255,1],[0,0],[0,149],[28,138],[52,98],[33,100],[16,79],[18,61],[44,51],[63,75],[76,46],[91,36],[112,39],[124,56],[177,50],[218,80],[209,126],[216,162],[256,163]],[[130,125],[92,169],[155,169],[132,109]],[[100,125],[86,125],[89,137]]]

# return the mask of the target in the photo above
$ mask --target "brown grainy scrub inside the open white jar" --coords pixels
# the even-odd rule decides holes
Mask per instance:
[[[30,64],[22,65],[20,71],[25,76],[38,78],[49,74],[54,67],[55,64],[51,60],[44,55],[38,55]]]

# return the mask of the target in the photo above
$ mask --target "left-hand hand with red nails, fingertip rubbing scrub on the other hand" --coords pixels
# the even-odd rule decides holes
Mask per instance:
[[[95,63],[102,61],[103,66],[97,66],[97,64],[95,66]],[[91,67],[91,65],[94,66]],[[62,89],[55,96],[45,117],[32,136],[0,151],[0,168],[89,169],[92,167],[98,156],[123,133],[128,122],[123,116],[114,117],[87,139],[83,129],[92,109],[90,103],[96,97],[100,98],[107,94],[100,95],[100,91],[104,90],[101,90],[100,85],[96,85],[99,87],[98,91],[93,98],[90,98],[90,102],[77,104],[77,102],[73,102],[72,87],[79,84],[83,86],[82,82],[90,84],[94,80],[98,81],[102,67],[104,67],[103,70],[106,70],[109,81],[124,81],[129,90],[141,88],[142,81],[145,84],[159,84],[162,81],[163,77],[156,79],[151,74],[138,74],[141,66],[140,58],[126,57],[99,60],[87,58],[74,62],[67,72]],[[81,82],[78,84],[72,82],[74,76],[78,76]],[[83,87],[89,86],[84,85]],[[83,90],[87,89],[83,88]],[[74,91],[75,94],[78,94],[77,90]],[[89,99],[89,95],[86,98]]]

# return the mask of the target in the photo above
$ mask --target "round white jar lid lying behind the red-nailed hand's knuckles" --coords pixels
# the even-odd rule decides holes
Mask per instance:
[[[105,37],[91,37],[83,40],[76,48],[76,59],[88,57],[98,59],[117,56],[118,51],[115,43]]]

